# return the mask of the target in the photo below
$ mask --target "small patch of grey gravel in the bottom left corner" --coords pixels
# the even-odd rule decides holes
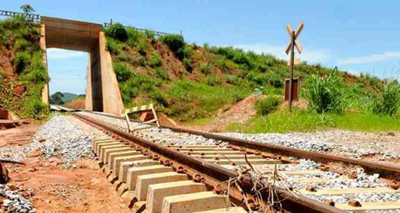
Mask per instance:
[[[0,197],[3,198],[3,205],[0,207],[5,212],[35,213],[32,203],[9,185],[0,184]],[[1,211],[1,210],[0,210]]]

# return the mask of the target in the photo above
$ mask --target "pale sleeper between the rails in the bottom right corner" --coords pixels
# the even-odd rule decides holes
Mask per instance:
[[[335,207],[343,210],[387,210],[387,209],[400,209],[400,201],[391,202],[360,202],[360,207],[354,207],[347,203],[336,203]]]

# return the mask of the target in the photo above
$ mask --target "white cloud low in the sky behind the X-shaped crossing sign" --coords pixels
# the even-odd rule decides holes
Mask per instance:
[[[265,53],[275,56],[278,59],[289,60],[290,55],[286,55],[286,46],[271,46],[266,44],[237,44],[233,47],[242,48],[243,50],[252,50],[258,54]],[[306,61],[311,64],[326,63],[332,58],[332,54],[328,49],[303,49],[300,56],[301,61]]]

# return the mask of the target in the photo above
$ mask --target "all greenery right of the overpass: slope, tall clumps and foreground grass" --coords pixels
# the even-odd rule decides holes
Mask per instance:
[[[363,74],[356,77],[302,63],[295,67],[295,74],[304,82],[300,97],[307,100],[309,108],[287,112],[276,110],[281,103],[279,96],[284,94],[284,79],[289,76],[283,60],[233,47],[187,44],[181,35],[154,38],[150,32],[140,33],[119,24],[104,30],[127,107],[155,101],[158,111],[188,122],[213,117],[219,110],[258,93],[277,97],[259,101],[260,116],[243,125],[251,128],[248,132],[341,127],[346,124],[341,121],[353,114],[356,117],[350,120],[364,123],[368,116],[371,120],[398,120],[395,81]],[[366,104],[369,102],[372,104]],[[263,128],[253,131],[257,122]],[[288,122],[293,125],[285,127]],[[244,130],[237,126],[236,130]]]

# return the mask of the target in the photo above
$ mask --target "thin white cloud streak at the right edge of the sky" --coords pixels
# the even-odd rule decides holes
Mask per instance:
[[[350,57],[347,59],[340,59],[339,64],[367,64],[372,62],[382,62],[400,59],[400,51],[386,51],[382,54],[373,54],[370,56]]]

